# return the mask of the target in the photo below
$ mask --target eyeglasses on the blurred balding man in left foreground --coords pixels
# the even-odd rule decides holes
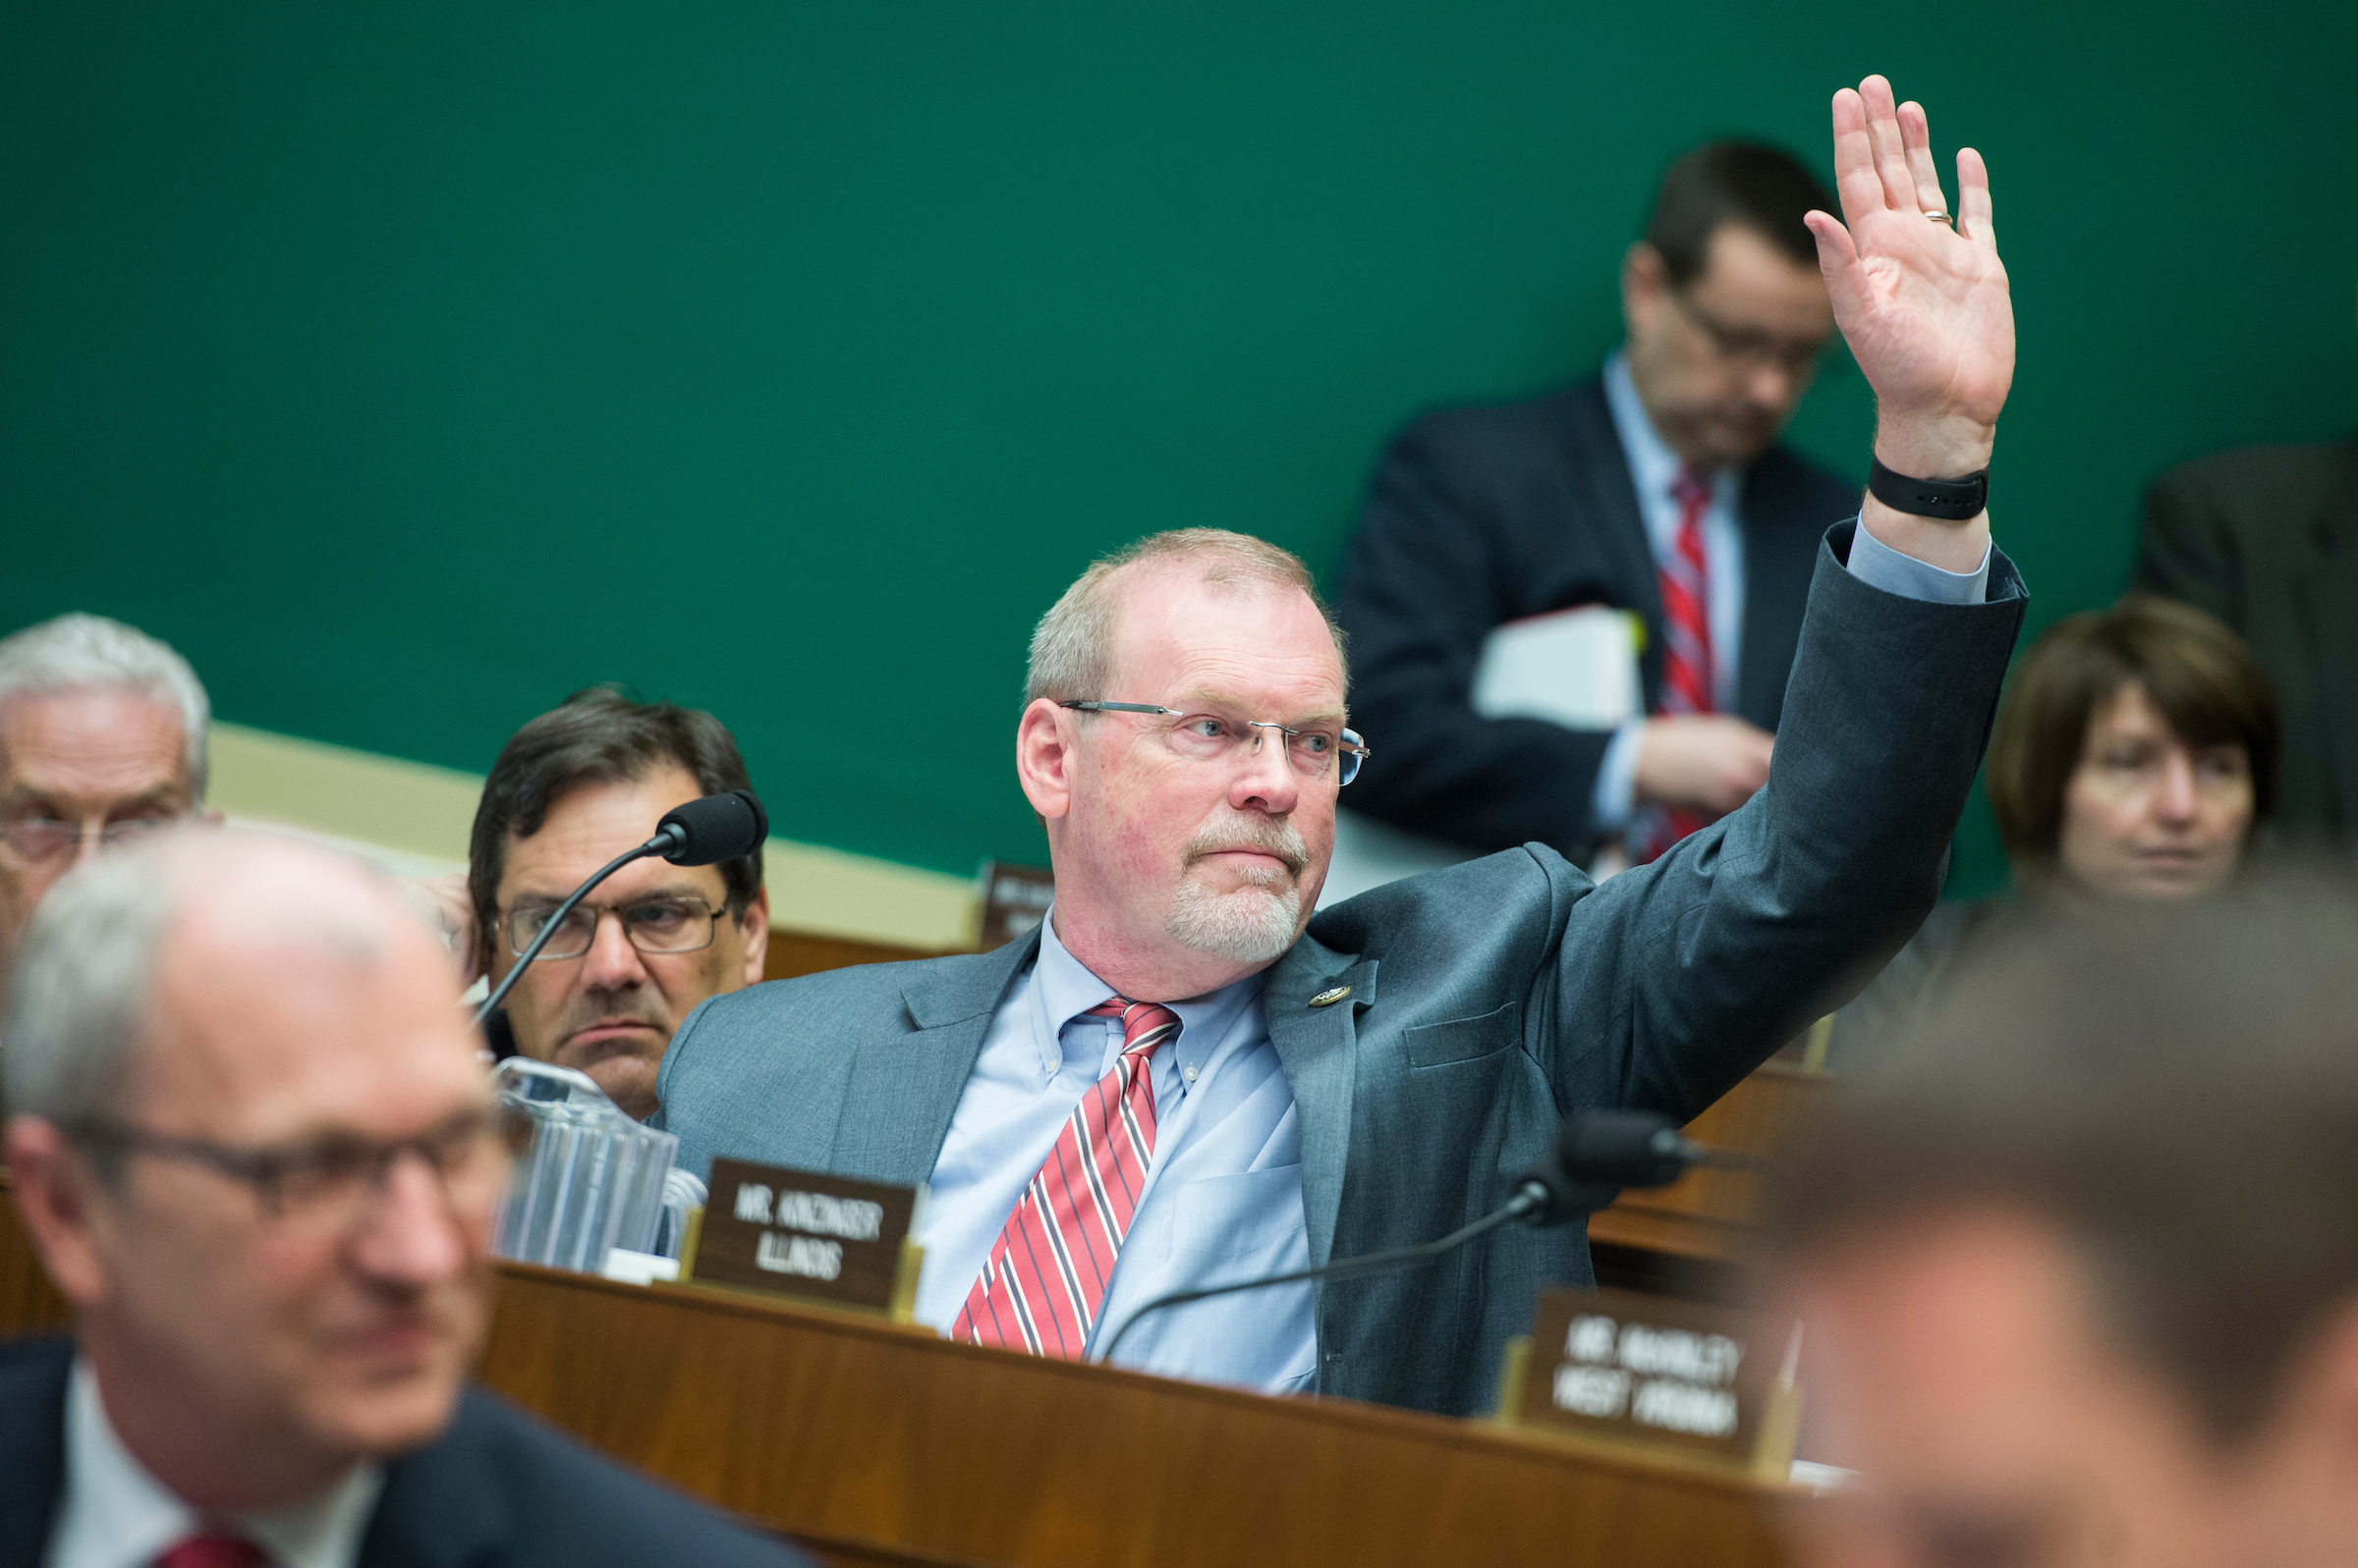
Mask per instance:
[[[356,1231],[403,1155],[434,1172],[453,1214],[488,1214],[514,1153],[507,1120],[490,1108],[462,1111],[410,1139],[325,1137],[281,1148],[231,1148],[108,1120],[71,1122],[64,1132],[92,1151],[186,1160],[243,1181],[264,1221],[311,1236]]]

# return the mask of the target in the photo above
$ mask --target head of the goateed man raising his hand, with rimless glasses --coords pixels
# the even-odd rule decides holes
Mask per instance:
[[[1040,620],[1016,773],[1056,936],[1096,979],[1170,1002],[1299,938],[1335,844],[1344,681],[1309,571],[1236,533],[1141,540]]]

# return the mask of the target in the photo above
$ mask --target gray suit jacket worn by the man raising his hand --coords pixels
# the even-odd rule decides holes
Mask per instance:
[[[1313,1261],[1504,1203],[1570,1111],[1691,1118],[1931,908],[2023,587],[1997,556],[1983,606],[1877,592],[1835,559],[1851,528],[1820,549],[1776,766],[1743,811],[1603,887],[1542,844],[1396,882],[1320,913],[1271,969]],[[663,1061],[681,1165],[924,1181],[1035,948],[712,997]],[[1309,1007],[1330,986],[1349,1002]],[[1592,1278],[1580,1228],[1509,1228],[1431,1269],[1328,1285],[1318,1391],[1483,1410],[1537,1290]]]

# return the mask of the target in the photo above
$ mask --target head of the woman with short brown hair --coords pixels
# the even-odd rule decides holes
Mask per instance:
[[[2235,632],[2172,599],[2051,625],[1990,733],[1990,811],[2023,884],[2207,894],[2275,806],[2278,712]]]

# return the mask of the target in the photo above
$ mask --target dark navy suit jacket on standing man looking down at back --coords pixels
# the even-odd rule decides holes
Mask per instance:
[[[1773,446],[1743,474],[1745,632],[1735,710],[1778,729],[1818,540],[1860,486]],[[1375,757],[1351,809],[1467,849],[1526,839],[1589,858],[1611,731],[1474,712],[1493,627],[1580,604],[1646,620],[1646,707],[1662,698],[1662,589],[1601,377],[1519,403],[1443,408],[1375,469],[1335,580],[1351,712]]]

